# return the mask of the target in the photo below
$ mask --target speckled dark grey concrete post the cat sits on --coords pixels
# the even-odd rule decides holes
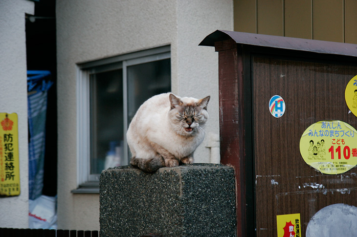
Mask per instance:
[[[100,176],[100,236],[236,236],[234,169],[216,164],[129,166]]]

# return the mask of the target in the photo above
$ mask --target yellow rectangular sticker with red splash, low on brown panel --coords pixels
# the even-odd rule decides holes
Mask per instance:
[[[277,215],[278,237],[301,237],[300,213]]]

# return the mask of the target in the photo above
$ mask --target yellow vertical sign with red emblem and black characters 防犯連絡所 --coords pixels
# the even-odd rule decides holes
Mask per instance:
[[[0,196],[20,195],[18,117],[0,113]]]

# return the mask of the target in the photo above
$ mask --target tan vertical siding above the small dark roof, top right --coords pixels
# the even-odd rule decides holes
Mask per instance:
[[[356,0],[234,0],[234,30],[357,43]]]

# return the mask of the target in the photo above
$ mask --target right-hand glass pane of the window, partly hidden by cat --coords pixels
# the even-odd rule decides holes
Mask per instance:
[[[128,124],[150,97],[171,91],[170,59],[128,66]]]

